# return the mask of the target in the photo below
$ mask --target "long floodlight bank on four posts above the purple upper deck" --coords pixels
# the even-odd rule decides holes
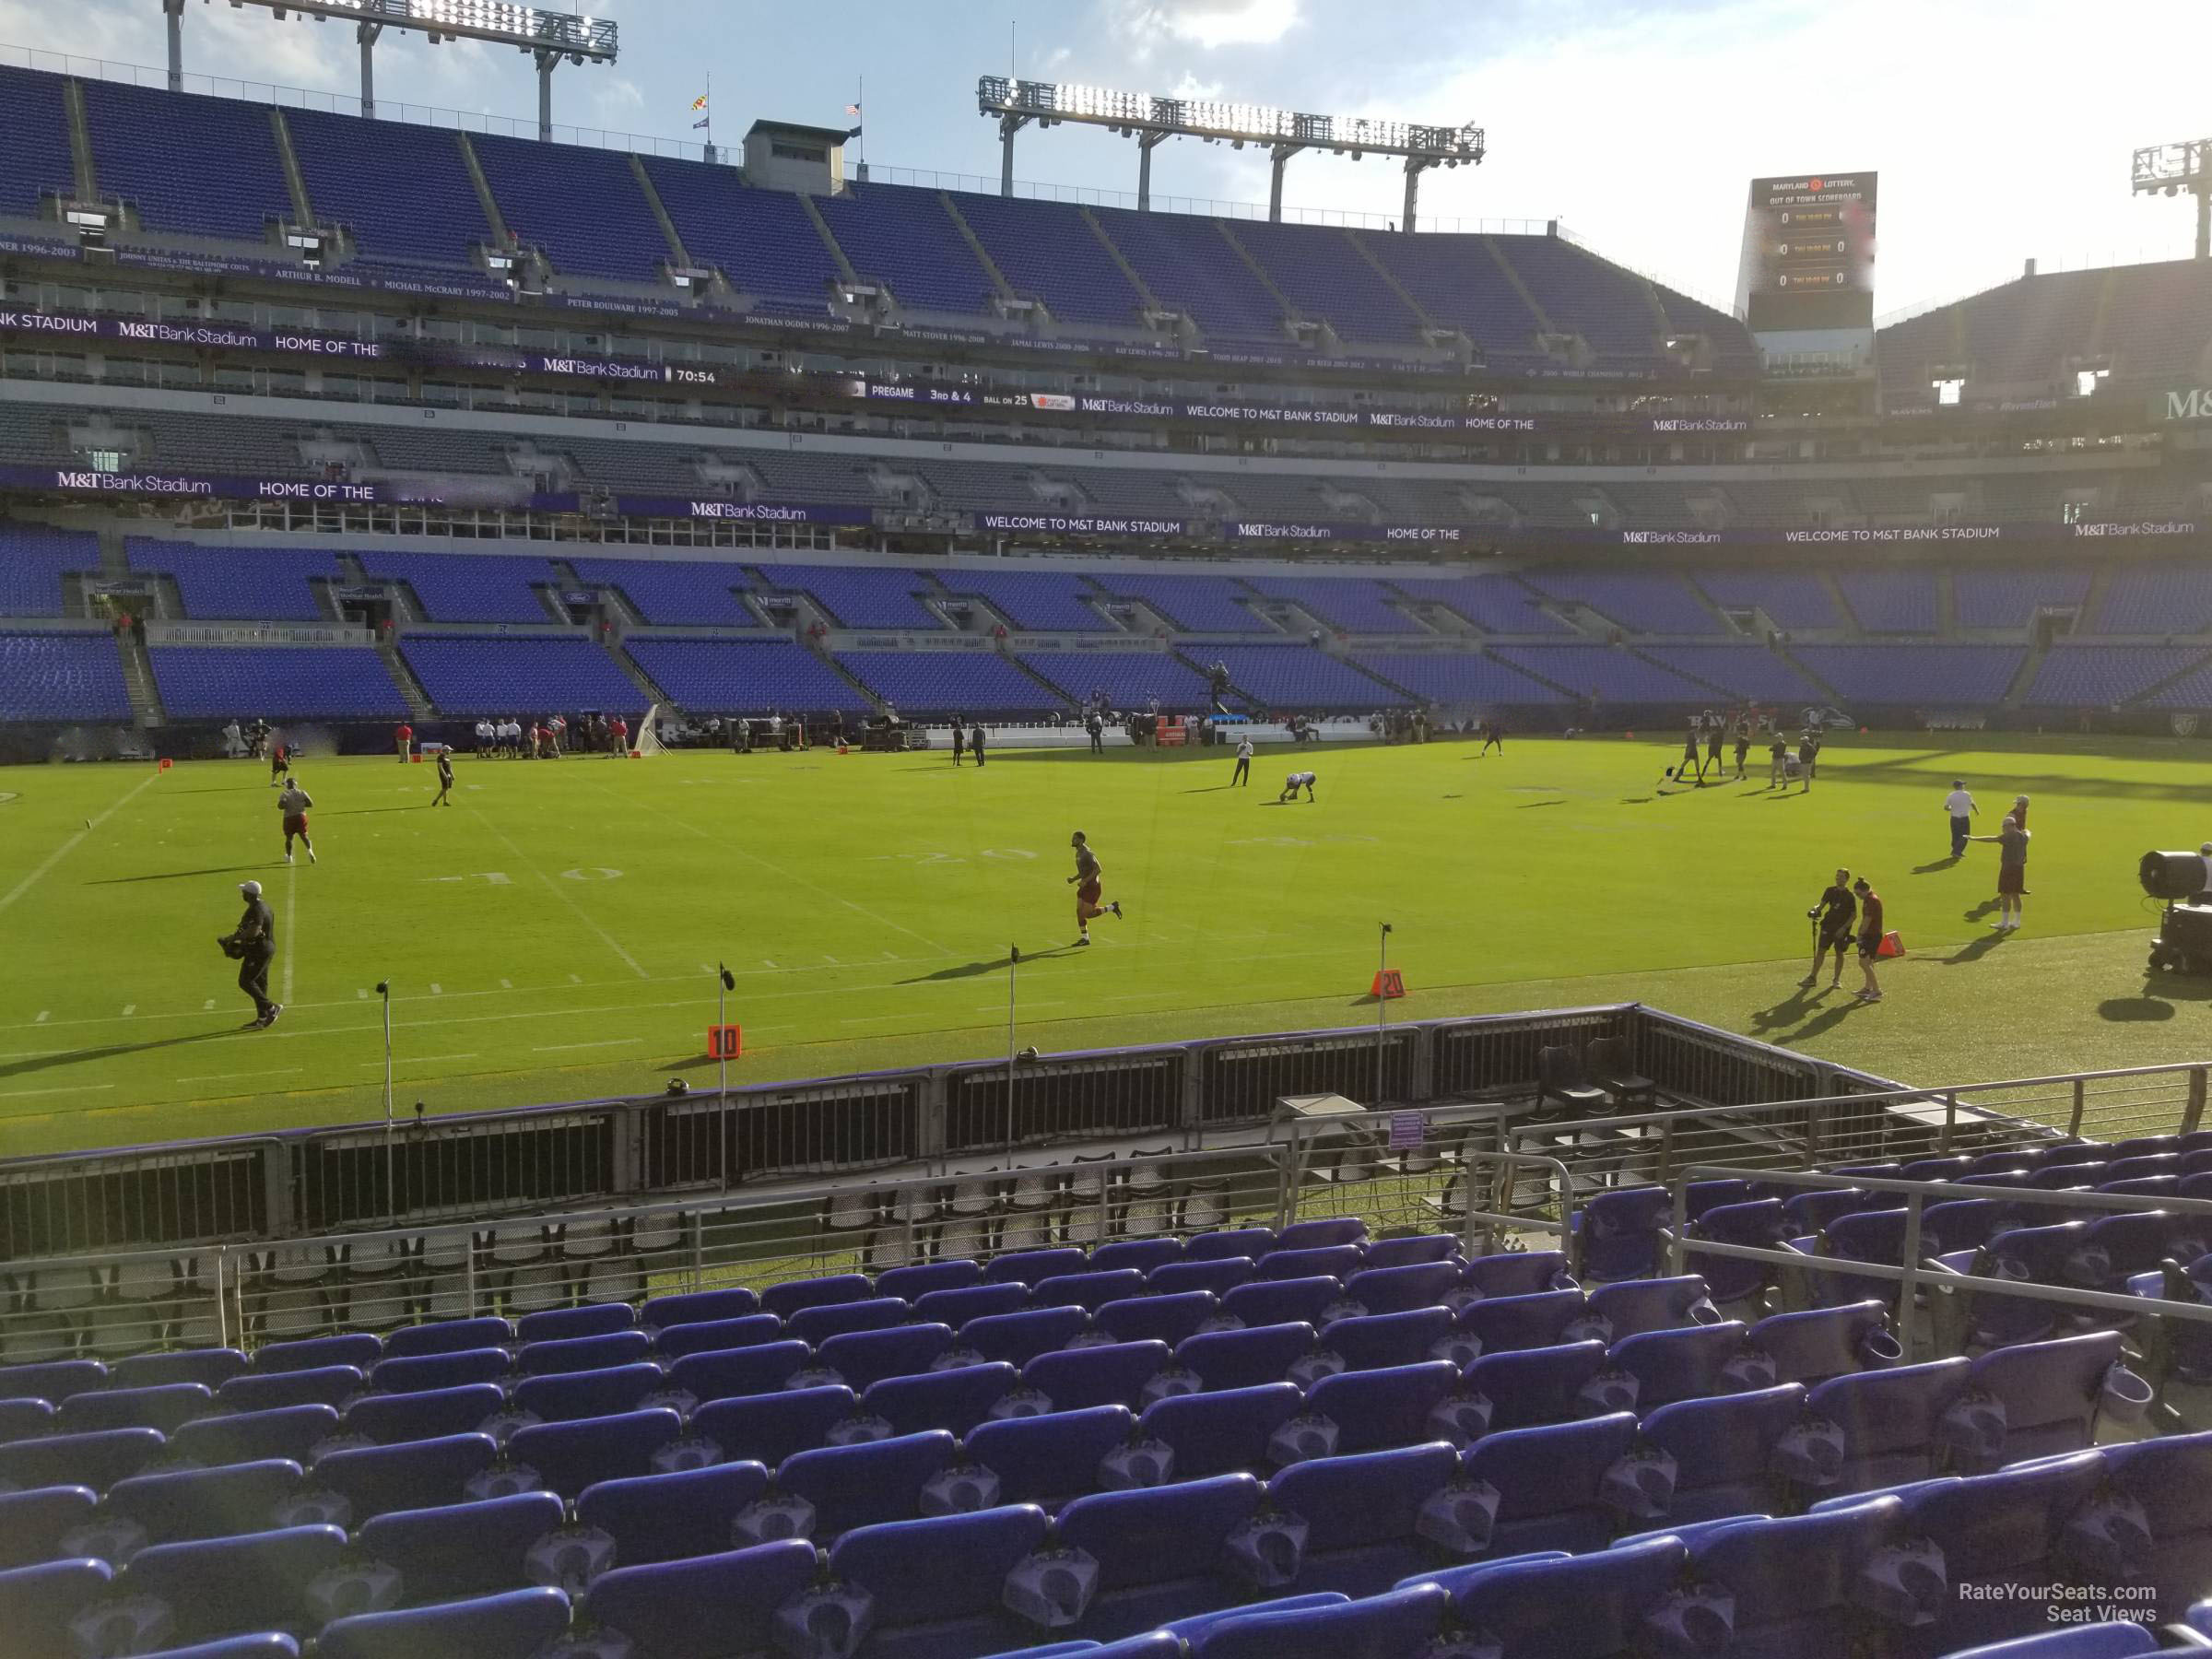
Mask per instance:
[[[1385,122],[1365,115],[1305,115],[1270,104],[1221,100],[1152,97],[1150,93],[1117,93],[1106,86],[1062,86],[1042,80],[1009,80],[984,75],[975,82],[975,108],[998,119],[1000,170],[998,192],[1013,195],[1013,135],[1035,122],[1057,126],[1079,122],[1104,126],[1115,137],[1137,139],[1137,208],[1152,206],[1152,150],[1170,137],[1197,137],[1208,144],[1228,142],[1267,146],[1272,179],[1267,217],[1283,217],[1283,166],[1298,150],[1349,150],[1358,161],[1365,153],[1405,157],[1405,230],[1413,228],[1420,175],[1433,166],[1475,166],[1484,157],[1482,128],[1422,126],[1418,122]]]

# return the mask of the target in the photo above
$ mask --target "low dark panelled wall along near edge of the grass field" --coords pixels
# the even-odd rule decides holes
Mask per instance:
[[[1250,1148],[1296,1095],[1526,1115],[1542,1051],[1595,1037],[1628,1040],[1690,1119],[1741,1115],[1750,1150],[1792,1164],[1880,1141],[1885,1108],[1849,1102],[1900,1088],[1641,1004],[1378,1022],[4,1159],[0,1261]],[[1958,1110],[2015,1128],[2002,1110]]]

